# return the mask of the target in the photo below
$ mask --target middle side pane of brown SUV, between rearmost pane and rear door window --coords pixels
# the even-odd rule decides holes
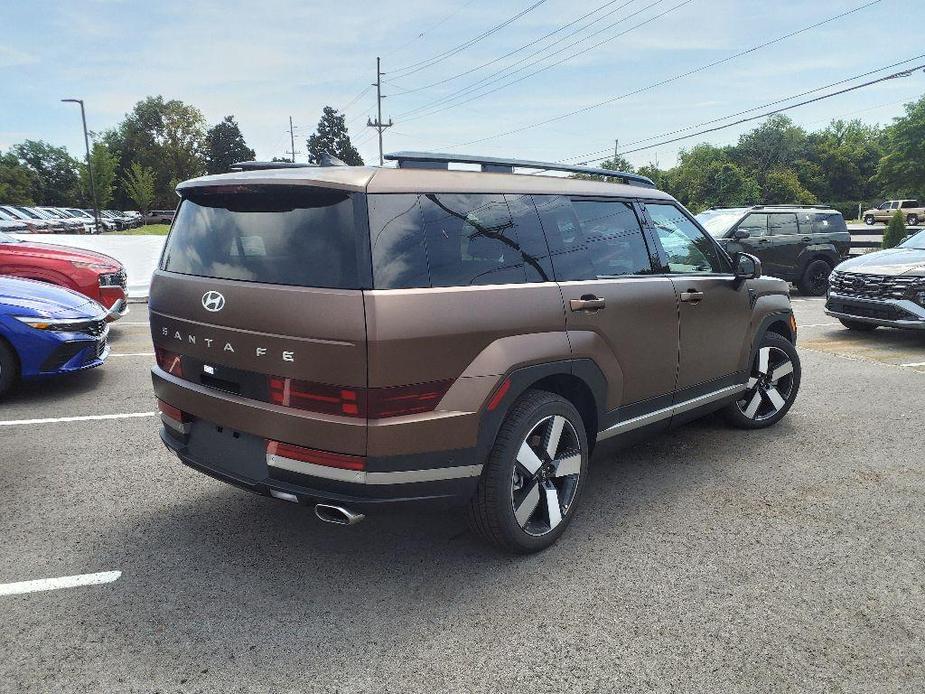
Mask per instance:
[[[503,195],[428,193],[421,209],[431,286],[526,281],[517,229]]]

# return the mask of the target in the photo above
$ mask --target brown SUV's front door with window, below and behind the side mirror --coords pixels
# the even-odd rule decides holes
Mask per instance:
[[[676,401],[738,383],[751,302],[716,243],[679,206],[647,202],[662,271],[680,302]]]

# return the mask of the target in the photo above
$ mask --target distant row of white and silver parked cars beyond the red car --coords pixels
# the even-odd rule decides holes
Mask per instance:
[[[100,210],[101,231],[123,231],[141,226],[140,213]],[[0,205],[0,232],[29,234],[93,234],[92,210],[77,207]]]

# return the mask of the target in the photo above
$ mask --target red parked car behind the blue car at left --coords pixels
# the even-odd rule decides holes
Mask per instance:
[[[66,287],[103,305],[108,320],[128,313],[125,269],[115,258],[80,248],[32,243],[0,232],[0,275]]]

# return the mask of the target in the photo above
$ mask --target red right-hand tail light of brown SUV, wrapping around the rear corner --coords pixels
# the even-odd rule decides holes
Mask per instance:
[[[270,401],[283,407],[346,417],[384,419],[431,412],[453,381],[431,381],[393,388],[342,388],[270,376]]]

